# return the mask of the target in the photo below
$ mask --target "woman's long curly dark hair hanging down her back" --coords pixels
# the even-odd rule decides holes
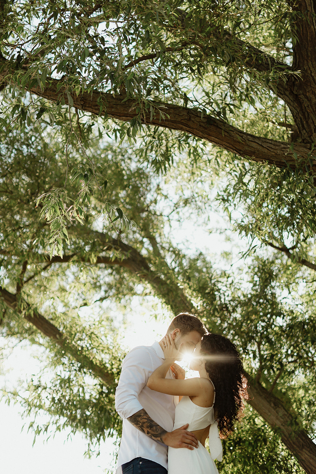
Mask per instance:
[[[215,386],[214,412],[221,438],[242,418],[243,399],[248,399],[247,379],[235,344],[219,334],[207,334],[201,342],[205,369]]]

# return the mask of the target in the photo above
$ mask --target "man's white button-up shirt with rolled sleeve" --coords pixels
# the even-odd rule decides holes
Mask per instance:
[[[144,457],[166,469],[168,447],[155,441],[135,428],[128,420],[137,411],[146,410],[148,415],[166,431],[172,431],[175,406],[179,397],[150,390],[146,383],[153,371],[163,364],[163,349],[158,342],[152,346],[139,346],[125,357],[115,392],[115,408],[123,418],[123,433],[117,457],[117,473],[120,466],[135,457]],[[172,371],[166,378],[174,378]]]

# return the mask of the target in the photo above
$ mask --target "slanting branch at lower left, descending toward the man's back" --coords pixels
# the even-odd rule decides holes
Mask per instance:
[[[111,386],[115,384],[114,376],[110,374],[105,367],[96,364],[89,356],[86,356],[84,354],[84,348],[72,344],[62,331],[45,319],[44,316],[31,307],[27,301],[23,300],[22,311],[18,304],[17,295],[8,292],[2,287],[0,287],[0,298],[7,307],[17,311],[23,319],[35,326],[44,336],[49,337],[58,346],[61,346],[65,353],[68,353],[75,360],[81,362],[84,367],[90,369],[104,383]]]

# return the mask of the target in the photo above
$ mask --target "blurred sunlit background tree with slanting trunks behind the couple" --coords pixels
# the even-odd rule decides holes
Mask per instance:
[[[103,203],[95,192],[85,219],[68,225],[69,244],[63,244],[63,258],[50,259],[43,252],[50,229],[39,219],[34,198],[38,187],[62,186],[67,164],[59,165],[63,146],[58,138],[45,142],[43,132],[46,135],[48,130],[36,125],[32,133],[11,132],[7,137],[2,133],[1,331],[9,339],[44,346],[46,364],[54,373],[49,382],[32,380],[9,396],[22,400],[27,412],[46,410],[58,429],[64,424],[81,429],[91,443],[108,432],[119,433],[113,395],[124,354],[116,342],[115,325],[99,305],[102,301],[127,304],[132,295],[153,294],[174,314],[183,308],[193,310],[210,330],[226,334],[241,348],[250,383],[249,403],[259,417],[247,410],[239,436],[255,438],[262,447],[267,439],[278,439],[269,443],[269,451],[262,452],[257,465],[269,472],[301,472],[291,455],[285,454],[284,443],[311,472],[314,283],[300,294],[300,267],[292,267],[282,254],[253,257],[234,275],[213,268],[203,254],[186,255],[172,245],[164,228],[172,223],[171,213],[178,213],[180,219],[185,210],[200,213],[206,208],[208,213],[205,170],[196,167],[185,178],[179,167],[174,169],[181,177],[181,192],[172,196],[177,176],[167,185],[162,177],[137,165],[129,148],[113,143],[95,150],[95,166],[106,164],[112,178],[109,202],[120,201],[124,213],[135,216],[137,229],[123,241],[107,220],[96,219]],[[87,164],[82,155],[76,155],[76,162]],[[82,314],[78,309],[86,306],[90,310]],[[35,429],[41,428],[35,425]],[[241,438],[228,439],[226,451],[240,445]],[[251,459],[255,456],[254,451]],[[231,455],[227,459],[228,469],[249,465],[245,452],[238,461]],[[278,466],[292,466],[288,467],[292,470],[278,471]]]

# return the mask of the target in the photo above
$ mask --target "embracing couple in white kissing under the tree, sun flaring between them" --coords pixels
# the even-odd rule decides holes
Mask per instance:
[[[175,361],[193,352],[190,368],[199,377],[185,379]],[[246,397],[236,346],[180,313],[160,342],[135,347],[123,361],[115,395],[123,418],[117,474],[217,474],[219,433],[232,430]]]

